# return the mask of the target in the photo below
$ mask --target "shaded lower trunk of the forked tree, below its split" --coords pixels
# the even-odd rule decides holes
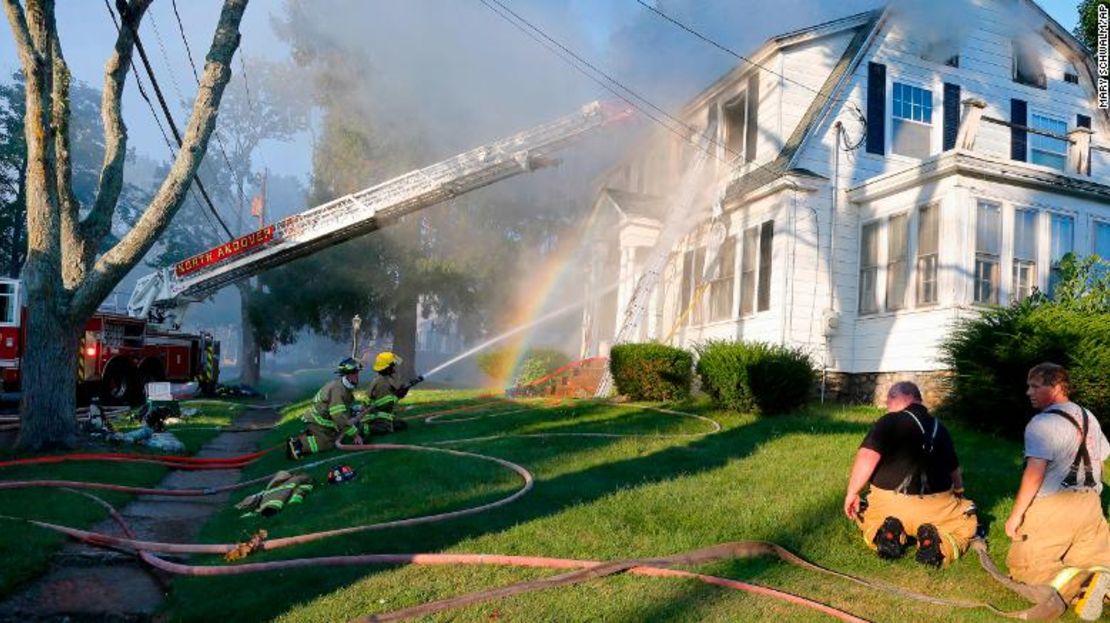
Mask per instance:
[[[39,451],[77,445],[77,346],[73,326],[49,301],[28,298],[27,349],[21,364],[23,414],[17,445]],[[82,323],[83,324],[83,323]],[[68,414],[68,416],[41,416]]]

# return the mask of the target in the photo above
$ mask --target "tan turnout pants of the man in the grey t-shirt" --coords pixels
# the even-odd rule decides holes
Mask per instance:
[[[1037,498],[1006,556],[1010,576],[1049,584],[1071,601],[1091,571],[1110,567],[1110,527],[1099,494],[1064,491]]]

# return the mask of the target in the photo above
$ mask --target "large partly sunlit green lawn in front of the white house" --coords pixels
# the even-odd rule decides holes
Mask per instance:
[[[463,405],[475,392],[414,392],[405,403]],[[276,443],[300,426],[306,402],[290,406]],[[389,441],[428,443],[501,433],[704,431],[706,424],[656,412],[596,403],[531,403],[525,413],[460,421],[412,422]],[[529,469],[535,489],[513,504],[443,523],[366,532],[286,550],[251,562],[354,553],[467,552],[593,560],[666,555],[724,541],[766,540],[818,564],[882,579],[918,592],[978,600],[1008,610],[1026,604],[991,583],[973,559],[936,571],[912,562],[878,560],[840,505],[859,441],[878,416],[869,408],[818,408],[758,419],[714,410],[705,402],[680,409],[720,422],[716,435],[690,438],[503,438],[452,448],[506,459]],[[421,409],[432,409],[422,406]],[[464,420],[504,412],[490,408],[445,416]],[[1009,541],[1002,520],[1020,478],[1021,449],[951,425],[969,494],[990,524],[990,549],[1003,566]],[[340,459],[336,459],[340,462]],[[317,485],[305,504],[269,520],[215,515],[203,542],[229,542],[259,527],[272,536],[299,534],[472,506],[518,486],[512,474],[484,462],[407,452],[342,459],[359,471],[342,485]],[[287,465],[268,456],[244,478]],[[326,466],[312,473],[323,482]],[[198,556],[198,564],[219,564]],[[951,611],[902,602],[840,580],[773,560],[726,561],[699,571],[779,587],[872,621],[993,621],[985,611]],[[220,579],[180,577],[165,605],[175,621],[312,622],[349,620],[552,572],[505,567],[316,567]],[[219,592],[220,600],[211,595]],[[1067,615],[1066,620],[1071,617]],[[776,600],[693,581],[615,576],[450,611],[434,621],[827,621]],[[1072,617],[1073,619],[1073,617]]]

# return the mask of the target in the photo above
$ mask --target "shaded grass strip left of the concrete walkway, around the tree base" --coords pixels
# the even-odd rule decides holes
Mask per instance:
[[[189,408],[190,403],[183,403]],[[238,405],[208,402],[201,413],[180,425],[168,426],[194,454],[219,432],[215,426],[226,425],[241,409]],[[138,424],[128,423],[122,429]],[[205,426],[205,428],[201,428]],[[196,430],[185,430],[193,429]],[[143,446],[121,445],[118,448],[89,448],[84,451],[149,452]],[[0,461],[20,459],[26,454],[0,451]],[[44,465],[22,465],[0,470],[0,479],[14,480],[73,480],[89,482],[111,482],[132,486],[153,486],[165,476],[168,470],[158,465],[141,463],[73,462]],[[122,508],[133,496],[111,491],[97,492],[115,508]],[[0,490],[0,508],[3,514],[26,519],[37,519],[73,527],[89,527],[108,516],[107,511],[95,502],[60,489]],[[0,597],[18,590],[23,583],[47,571],[50,559],[65,543],[64,536],[23,523],[3,522],[0,530]]]

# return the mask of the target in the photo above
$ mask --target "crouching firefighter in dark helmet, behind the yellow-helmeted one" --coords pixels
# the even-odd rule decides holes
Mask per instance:
[[[353,393],[359,384],[360,370],[362,364],[350,356],[335,368],[340,378],[321,388],[312,401],[312,408],[301,416],[304,420],[304,432],[300,436],[289,438],[286,453],[290,459],[331,450],[340,440],[362,443],[362,435],[359,433],[362,408],[355,402]]]

